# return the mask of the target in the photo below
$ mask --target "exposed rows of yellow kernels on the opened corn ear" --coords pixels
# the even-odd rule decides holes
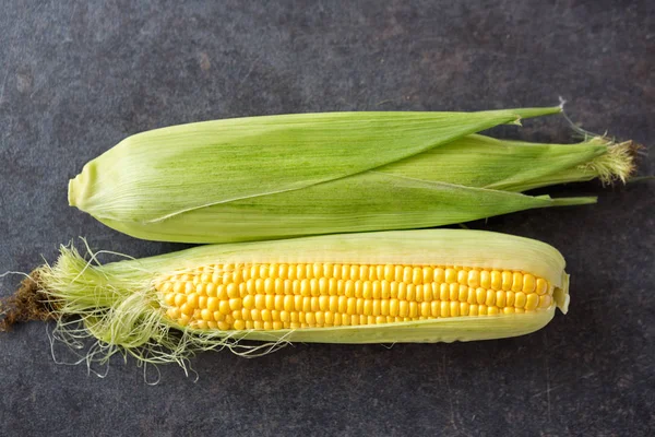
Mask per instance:
[[[508,281],[490,281],[501,276]],[[159,276],[154,287],[166,316],[194,329],[380,324],[555,305],[553,286],[543,277],[449,265],[209,264]]]

